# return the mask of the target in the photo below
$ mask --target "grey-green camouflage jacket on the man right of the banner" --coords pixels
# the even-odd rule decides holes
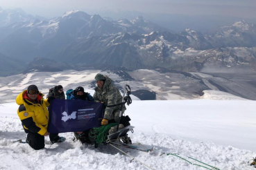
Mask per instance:
[[[119,89],[112,84],[112,79],[110,79],[108,76],[104,75],[105,77],[105,83],[103,88],[96,87],[94,88],[94,102],[103,102],[106,106],[104,118],[107,120],[117,120],[117,116],[119,117],[119,114],[115,115],[114,113],[117,111],[120,111],[121,105],[108,107],[110,105],[119,104],[122,102],[122,96],[119,91]],[[123,105],[122,113],[126,111],[126,106]]]

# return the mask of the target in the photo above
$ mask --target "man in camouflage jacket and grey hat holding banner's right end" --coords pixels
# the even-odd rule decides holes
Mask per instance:
[[[97,74],[95,76],[97,87],[94,88],[94,102],[101,102],[105,105],[105,113],[101,125],[108,124],[108,121],[114,120],[118,122],[121,105],[108,107],[122,102],[122,96],[119,89],[112,84],[112,79],[107,75]],[[126,106],[123,105],[122,115],[126,111]]]

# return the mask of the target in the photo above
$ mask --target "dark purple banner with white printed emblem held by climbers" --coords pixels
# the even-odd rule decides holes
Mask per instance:
[[[49,133],[86,131],[101,126],[103,104],[83,100],[52,100],[49,106]]]

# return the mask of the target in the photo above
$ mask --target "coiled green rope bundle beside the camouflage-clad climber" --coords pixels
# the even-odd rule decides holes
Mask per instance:
[[[101,144],[105,142],[108,131],[112,126],[117,126],[117,123],[111,123],[98,128],[93,128],[91,131],[89,131],[89,137],[94,138],[96,144]]]

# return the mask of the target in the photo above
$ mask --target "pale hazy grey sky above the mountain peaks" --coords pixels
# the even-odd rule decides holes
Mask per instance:
[[[68,10],[136,10],[184,15],[223,15],[256,18],[256,0],[0,0],[1,8],[22,8],[42,17]]]

